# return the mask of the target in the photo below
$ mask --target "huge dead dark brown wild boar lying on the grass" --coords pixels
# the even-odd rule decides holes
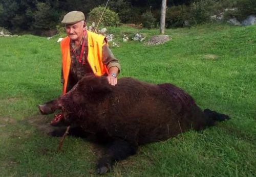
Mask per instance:
[[[41,113],[62,109],[67,125],[79,125],[107,143],[98,173],[135,154],[140,144],[166,140],[190,129],[202,130],[228,118],[208,109],[201,111],[190,95],[172,84],[155,85],[132,78],[121,78],[111,86],[106,77],[84,77],[67,94],[49,103],[39,106]]]

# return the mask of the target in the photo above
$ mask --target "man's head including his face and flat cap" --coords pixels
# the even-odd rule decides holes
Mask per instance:
[[[79,11],[71,11],[63,17],[61,23],[65,25],[66,33],[70,39],[80,42],[86,24],[84,20],[84,14]]]

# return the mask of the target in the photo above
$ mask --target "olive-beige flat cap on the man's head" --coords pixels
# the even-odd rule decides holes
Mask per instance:
[[[80,11],[71,11],[67,13],[64,17],[63,20],[61,21],[62,24],[73,24],[78,21],[84,20],[84,14]]]

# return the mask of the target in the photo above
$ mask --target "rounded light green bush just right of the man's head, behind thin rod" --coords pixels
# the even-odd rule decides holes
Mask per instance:
[[[104,14],[101,17],[103,11],[104,11]],[[117,27],[120,25],[118,14],[110,10],[109,8],[106,8],[104,10],[104,7],[101,7],[101,6],[91,10],[88,16],[88,21],[91,23],[95,22],[97,24],[99,20],[100,20],[100,24],[102,24],[105,27]]]

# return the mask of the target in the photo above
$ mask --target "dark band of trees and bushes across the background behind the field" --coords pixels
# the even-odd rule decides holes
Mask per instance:
[[[82,11],[86,18],[90,16],[89,22],[97,23],[102,9],[93,16],[89,12],[99,5],[105,6],[105,3],[105,0],[0,0],[0,26],[12,33],[41,34],[55,29],[63,15],[73,10]],[[231,17],[241,21],[256,13],[255,0],[182,0],[167,1],[167,5],[167,28],[183,27],[184,21],[188,21],[190,26],[212,22],[211,16],[222,16],[223,12],[225,21]],[[101,23],[103,26],[118,26],[120,22],[140,24],[144,21],[145,28],[155,28],[160,22],[159,0],[117,0],[110,1],[107,7],[109,9],[103,15],[104,22]],[[232,8],[236,10],[225,11]],[[109,13],[109,10],[117,14]],[[152,14],[146,12],[148,10]]]

